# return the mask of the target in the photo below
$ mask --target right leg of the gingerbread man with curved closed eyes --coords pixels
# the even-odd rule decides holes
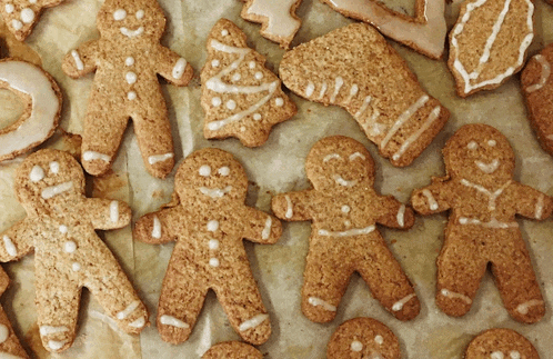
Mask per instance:
[[[421,309],[413,286],[388,249],[384,239],[376,232],[368,237],[371,238],[370,241],[354,251],[354,256],[359,258],[356,270],[371,289],[373,297],[395,318],[413,319]]]

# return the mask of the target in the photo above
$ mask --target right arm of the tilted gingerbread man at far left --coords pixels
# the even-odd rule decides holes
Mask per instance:
[[[83,213],[95,229],[118,229],[131,222],[131,208],[125,202],[101,198],[87,198],[83,203]]]

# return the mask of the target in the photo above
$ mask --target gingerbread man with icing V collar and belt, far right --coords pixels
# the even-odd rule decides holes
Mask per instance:
[[[515,215],[543,220],[553,200],[513,180],[513,149],[493,127],[463,126],[443,156],[446,177],[433,179],[411,199],[421,215],[451,210],[438,258],[436,305],[449,316],[465,315],[491,262],[511,317],[539,321],[545,305]]]

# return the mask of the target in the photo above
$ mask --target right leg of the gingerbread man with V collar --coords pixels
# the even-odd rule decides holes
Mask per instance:
[[[500,237],[502,246],[491,260],[492,272],[511,317],[533,323],[545,315],[545,303],[521,232],[506,232]]]

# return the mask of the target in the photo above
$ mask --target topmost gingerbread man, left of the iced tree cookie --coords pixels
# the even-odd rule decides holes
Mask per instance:
[[[97,70],[82,133],[82,166],[108,171],[131,118],[147,170],[159,178],[174,166],[173,140],[158,74],[187,86],[192,68],[160,44],[165,17],[154,0],[107,0],[97,20],[101,38],[68,53],[63,71]]]

